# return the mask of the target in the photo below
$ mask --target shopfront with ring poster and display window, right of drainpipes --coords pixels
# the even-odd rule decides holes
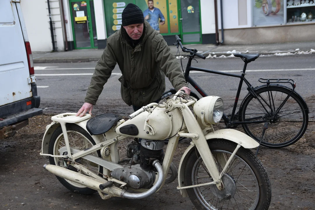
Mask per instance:
[[[223,40],[226,44],[315,41],[313,0],[223,1]],[[221,14],[218,22],[221,37]]]

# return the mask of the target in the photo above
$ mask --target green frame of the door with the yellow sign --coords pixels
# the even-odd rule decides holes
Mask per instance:
[[[78,0],[69,0],[74,48],[75,48],[75,49],[91,49],[91,48],[97,48],[97,47],[94,46],[94,35],[93,35],[93,29],[92,29],[90,0],[87,0],[87,1],[86,1],[86,6],[87,6],[87,11],[88,11],[87,21],[88,21],[88,27],[89,27],[89,31],[90,31],[89,35],[90,35],[91,47],[77,48],[76,36],[75,36],[75,33],[74,33],[74,25],[73,25],[74,20],[72,19],[72,18],[73,18],[73,15],[72,15],[72,5],[71,5],[72,2],[81,2],[81,1],[78,1]]]

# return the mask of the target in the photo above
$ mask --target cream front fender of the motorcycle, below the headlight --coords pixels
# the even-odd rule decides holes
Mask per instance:
[[[221,129],[216,130],[215,132],[210,132],[205,135],[205,138],[207,141],[215,140],[215,139],[226,139],[232,142],[235,142],[241,146],[243,146],[246,149],[250,148],[256,148],[258,147],[259,143],[256,142],[254,139],[246,135],[245,133],[242,133],[237,130],[233,129]],[[198,139],[197,139],[198,141]],[[188,159],[188,156],[191,154],[192,151],[194,151],[194,143],[191,142],[191,145],[186,149],[183,156],[181,157],[179,167],[178,167],[178,184],[179,187],[184,187],[184,171],[185,171],[185,165],[186,161]],[[180,190],[180,194],[183,197],[187,197],[187,191],[186,189]]]

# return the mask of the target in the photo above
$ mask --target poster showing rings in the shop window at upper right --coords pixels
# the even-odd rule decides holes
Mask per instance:
[[[283,0],[253,0],[253,25],[284,24]]]

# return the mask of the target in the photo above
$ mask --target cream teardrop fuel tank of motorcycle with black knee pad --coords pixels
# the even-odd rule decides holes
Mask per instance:
[[[144,111],[116,128],[116,133],[141,139],[167,139],[172,131],[172,121],[164,108]]]

